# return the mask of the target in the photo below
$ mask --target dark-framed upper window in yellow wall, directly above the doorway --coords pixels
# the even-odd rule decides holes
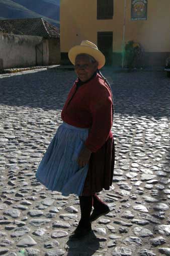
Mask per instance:
[[[113,19],[113,1],[114,0],[97,0],[97,19]]]

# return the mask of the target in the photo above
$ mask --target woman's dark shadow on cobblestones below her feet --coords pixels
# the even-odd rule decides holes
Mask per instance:
[[[66,256],[91,256],[99,248],[99,238],[96,237],[94,231],[80,239],[69,238],[65,244]]]

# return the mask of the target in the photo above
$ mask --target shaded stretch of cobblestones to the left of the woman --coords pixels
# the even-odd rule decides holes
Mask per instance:
[[[0,104],[62,109],[74,79],[70,71],[41,71],[1,78]]]

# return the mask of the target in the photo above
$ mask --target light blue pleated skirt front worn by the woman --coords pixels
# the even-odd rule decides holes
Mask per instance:
[[[89,129],[63,122],[36,171],[38,181],[51,191],[59,191],[63,196],[81,196],[89,165],[80,168],[76,160],[88,134]]]

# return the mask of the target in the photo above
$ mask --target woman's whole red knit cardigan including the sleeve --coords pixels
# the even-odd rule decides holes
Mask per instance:
[[[64,122],[90,128],[84,143],[92,152],[97,152],[107,139],[112,138],[112,95],[105,80],[97,73],[96,77],[76,90],[78,79],[74,82],[61,118]]]

